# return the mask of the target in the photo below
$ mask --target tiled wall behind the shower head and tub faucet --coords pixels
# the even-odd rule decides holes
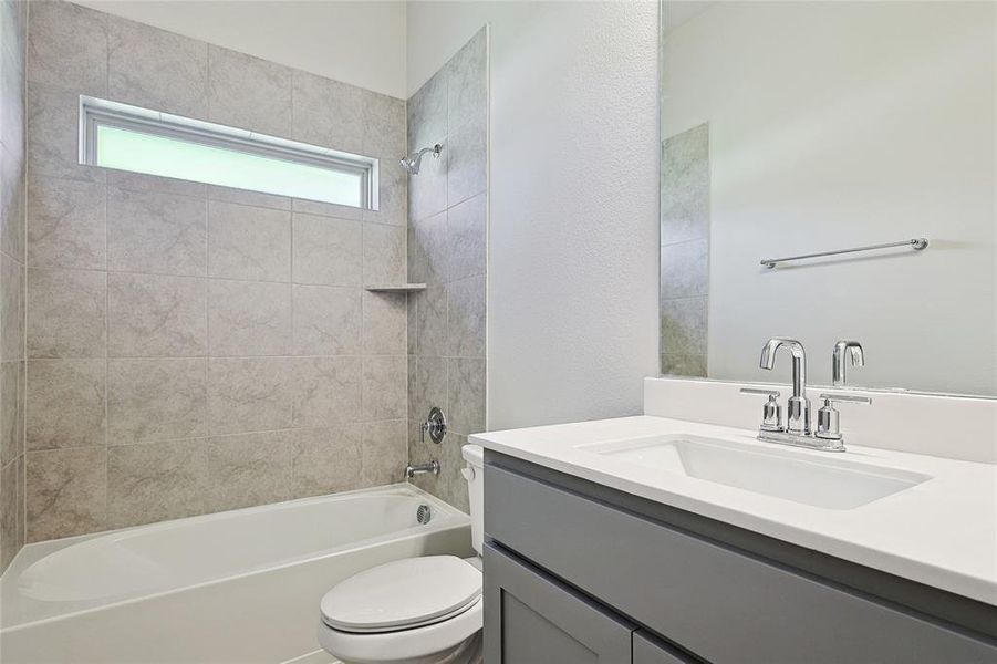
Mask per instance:
[[[408,100],[408,147],[439,143],[408,185],[409,457],[436,458],[416,485],[467,511],[460,447],[485,430],[488,42],[482,28]],[[432,406],[447,415],[440,445],[419,442]]]

